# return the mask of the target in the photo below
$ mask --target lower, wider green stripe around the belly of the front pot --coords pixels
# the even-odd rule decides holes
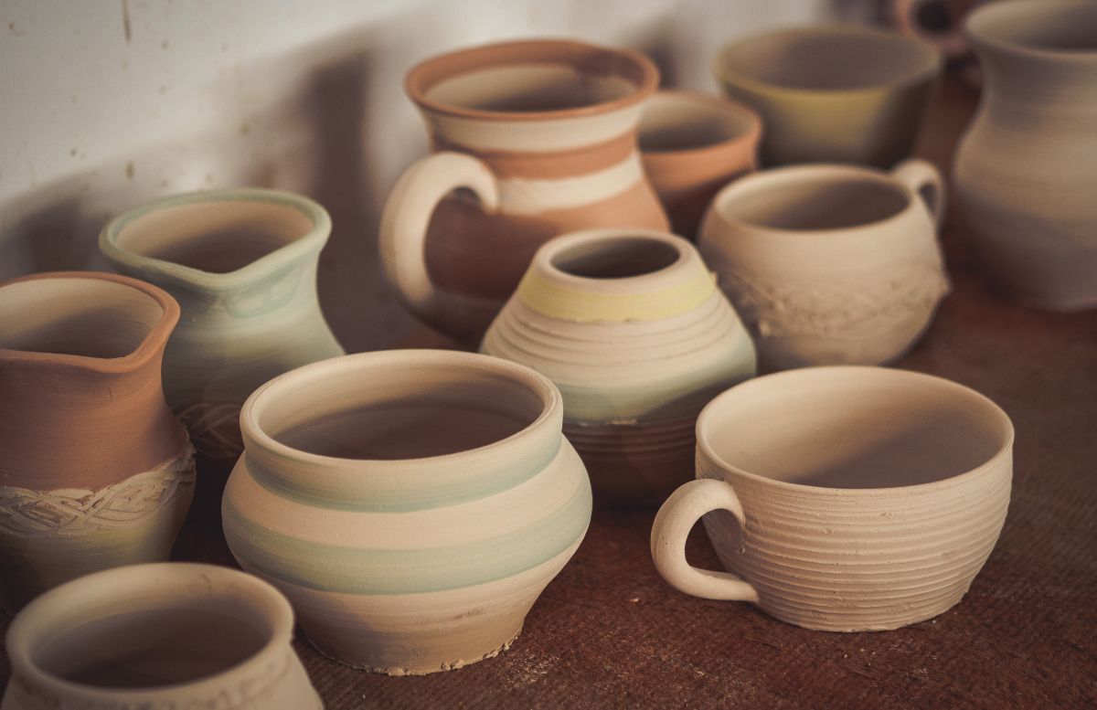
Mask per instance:
[[[362,549],[308,542],[273,532],[240,515],[225,499],[225,538],[237,559],[259,572],[310,589],[340,594],[444,592],[495,582],[556,557],[590,523],[590,484],[529,527],[464,545],[423,550]]]

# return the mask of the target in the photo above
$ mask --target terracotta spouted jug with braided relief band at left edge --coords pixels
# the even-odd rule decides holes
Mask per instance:
[[[179,306],[93,272],[0,283],[0,605],[166,560],[194,450],[160,387]]]

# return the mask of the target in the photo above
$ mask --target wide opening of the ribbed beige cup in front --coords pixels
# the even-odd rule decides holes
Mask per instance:
[[[790,376],[791,375],[791,376]],[[993,402],[927,375],[810,368],[714,401],[701,436],[726,466],[827,489],[892,489],[972,471],[1013,440]]]

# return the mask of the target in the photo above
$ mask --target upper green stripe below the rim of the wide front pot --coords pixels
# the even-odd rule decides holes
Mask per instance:
[[[522,457],[521,460],[506,461],[500,467],[489,467],[479,471],[468,471],[462,476],[431,476],[418,479],[420,484],[409,484],[416,479],[414,474],[402,473],[399,480],[387,490],[373,486],[369,497],[355,496],[342,490],[324,490],[317,481],[305,471],[296,480],[287,481],[268,471],[255,456],[247,456],[247,470],[251,478],[268,491],[295,503],[309,507],[323,507],[331,511],[349,511],[352,513],[408,513],[411,511],[428,511],[449,505],[460,505],[477,499],[495,495],[530,480],[547,468],[559,454],[564,437],[550,439],[539,451]],[[297,466],[295,461],[284,461],[287,466]],[[319,473],[318,476],[323,476]],[[363,477],[377,477],[363,472]],[[392,474],[388,474],[392,476]],[[449,479],[442,480],[443,478]]]

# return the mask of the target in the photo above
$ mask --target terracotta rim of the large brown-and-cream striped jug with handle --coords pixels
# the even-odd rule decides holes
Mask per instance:
[[[501,56],[500,56],[501,55]],[[468,108],[455,106],[430,99],[427,93],[438,82],[453,77],[491,67],[539,61],[555,58],[561,64],[581,66],[583,59],[593,56],[613,57],[617,62],[625,66],[621,69],[632,69],[636,80],[632,81],[633,91],[620,99],[606,101],[588,106],[574,108],[555,108],[550,111],[493,111],[485,108]],[[460,67],[445,71],[444,65],[456,62]],[[612,73],[627,78],[622,70]],[[603,47],[600,45],[578,42],[575,39],[532,38],[517,42],[500,42],[457,49],[434,55],[414,66],[404,79],[404,90],[408,98],[423,111],[431,114],[471,118],[478,121],[499,122],[533,122],[558,121],[613,113],[635,106],[655,93],[659,85],[659,70],[655,62],[634,49],[623,47]]]

